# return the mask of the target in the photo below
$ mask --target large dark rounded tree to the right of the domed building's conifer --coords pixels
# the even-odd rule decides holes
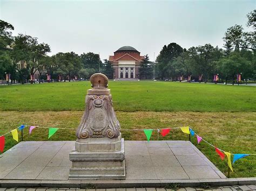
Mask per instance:
[[[169,77],[170,72],[168,70],[170,71],[170,67],[172,67],[172,61],[182,52],[183,48],[176,43],[170,43],[168,46],[164,45],[156,59],[160,79]]]

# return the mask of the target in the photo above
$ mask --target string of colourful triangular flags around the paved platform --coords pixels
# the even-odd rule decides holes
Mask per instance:
[[[51,128],[51,127],[42,127],[42,126],[21,125],[18,128],[14,129],[14,130],[11,130],[11,131],[5,133],[4,135],[0,136],[0,151],[1,152],[4,151],[5,135],[7,135],[8,133],[11,133],[12,138],[14,140],[16,140],[16,142],[19,142],[19,140],[18,140],[18,130],[21,131],[26,127],[29,127],[29,135],[31,135],[33,129],[35,129],[35,128],[47,128],[47,129],[49,129],[48,139],[50,139],[50,137],[53,136],[59,129],[76,130],[76,129],[72,129],[72,128]],[[221,150],[220,148],[215,147],[214,145],[208,143],[205,139],[203,139],[202,137],[197,135],[197,133],[195,133],[190,128],[190,126],[184,126],[184,127],[180,127],[180,128],[164,128],[164,129],[121,129],[121,131],[142,131],[143,130],[144,133],[145,133],[145,136],[147,138],[147,141],[149,142],[150,138],[152,136],[153,130],[157,130],[157,135],[160,132],[161,136],[165,137],[166,135],[168,135],[170,133],[170,131],[172,129],[180,129],[183,133],[186,133],[186,134],[191,135],[191,136],[195,136],[197,138],[197,143],[198,144],[203,140],[205,143],[207,143],[208,145],[215,148],[215,152],[219,155],[221,160],[224,160],[225,156],[227,156],[227,165],[231,169],[232,172],[233,172],[232,163],[234,164],[234,162],[237,161],[238,159],[244,158],[248,155],[256,155],[256,154],[232,154],[230,152],[226,152],[224,150]],[[231,163],[231,155],[233,155],[233,162],[232,163]]]

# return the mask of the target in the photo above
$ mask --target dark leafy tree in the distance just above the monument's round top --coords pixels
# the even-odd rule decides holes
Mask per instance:
[[[97,72],[101,72],[102,69],[102,61],[99,58],[99,54],[95,54],[92,52],[83,53],[80,55],[81,61],[83,63],[84,68],[93,68]]]

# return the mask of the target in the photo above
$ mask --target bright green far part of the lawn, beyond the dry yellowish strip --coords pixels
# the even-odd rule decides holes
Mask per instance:
[[[256,88],[153,81],[110,81],[116,111],[256,111]],[[2,111],[84,110],[90,82],[0,87]]]

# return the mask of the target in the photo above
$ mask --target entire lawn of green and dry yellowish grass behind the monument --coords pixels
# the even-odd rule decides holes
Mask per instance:
[[[111,81],[109,87],[121,129],[189,125],[225,151],[256,153],[255,87],[151,81]],[[0,87],[0,135],[21,124],[76,129],[89,88],[89,82]],[[146,140],[143,131],[122,131],[122,135],[126,140]],[[75,139],[75,130],[58,130],[50,138]],[[151,139],[157,140],[156,131]],[[5,140],[5,151],[16,144],[11,134]],[[24,140],[48,140],[48,129],[34,129],[31,136],[25,129]],[[188,135],[177,129],[164,138],[159,135],[159,140],[188,140]],[[192,142],[227,175],[226,159],[222,161],[206,143],[198,145],[196,138]],[[256,157],[237,160],[233,169],[232,178],[256,176]]]

